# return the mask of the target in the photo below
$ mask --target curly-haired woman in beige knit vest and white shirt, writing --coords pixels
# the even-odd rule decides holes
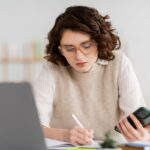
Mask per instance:
[[[103,140],[121,116],[145,106],[108,19],[94,8],[72,6],[49,32],[47,62],[34,86],[46,137],[72,144]],[[72,113],[84,128],[76,125]]]

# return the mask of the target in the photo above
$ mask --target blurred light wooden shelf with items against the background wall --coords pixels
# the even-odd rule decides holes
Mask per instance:
[[[44,62],[41,41],[0,43],[0,82],[33,81]]]

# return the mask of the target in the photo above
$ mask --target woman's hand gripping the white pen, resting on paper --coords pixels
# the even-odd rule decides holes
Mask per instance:
[[[87,130],[79,126],[74,126],[70,130],[70,143],[73,145],[91,144],[93,138],[93,130]]]

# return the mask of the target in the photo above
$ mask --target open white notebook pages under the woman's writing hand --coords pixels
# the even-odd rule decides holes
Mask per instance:
[[[76,146],[76,145],[72,145],[68,142],[63,142],[63,141],[58,141],[58,140],[52,140],[52,139],[48,139],[45,138],[45,142],[47,145],[48,149],[68,149],[68,148],[75,148],[75,147],[79,147],[79,148],[100,148],[99,142],[98,141],[94,141],[91,145],[84,145],[84,146]]]

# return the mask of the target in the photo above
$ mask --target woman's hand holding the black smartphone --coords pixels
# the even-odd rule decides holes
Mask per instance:
[[[130,118],[134,122],[137,129],[135,129],[127,120],[127,118],[122,119],[119,124],[118,128],[120,129],[121,133],[127,139],[128,142],[133,141],[150,141],[150,125],[144,128],[140,121],[133,115],[130,115]]]

